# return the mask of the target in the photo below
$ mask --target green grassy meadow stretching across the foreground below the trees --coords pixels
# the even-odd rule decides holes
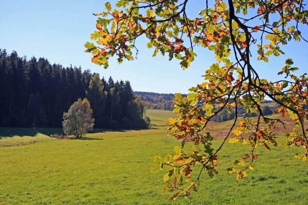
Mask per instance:
[[[166,137],[167,119],[174,114],[147,110],[147,115],[149,130],[92,133],[82,140],[50,138],[61,132],[57,129],[0,129],[0,204],[308,204],[308,166],[294,158],[298,149],[258,148],[256,169],[237,183],[226,169],[247,147],[232,144],[219,155],[219,175],[211,179],[204,173],[198,193],[169,200],[173,193],[162,190],[165,173],[148,170],[156,166],[154,156],[179,145]]]

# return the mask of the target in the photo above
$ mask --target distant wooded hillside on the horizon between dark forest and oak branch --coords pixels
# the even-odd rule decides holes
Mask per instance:
[[[169,93],[153,93],[153,92],[133,92],[135,95],[140,96],[146,108],[151,109],[163,109],[163,110],[173,110],[174,103],[173,99],[175,94]],[[186,96],[186,94],[182,94]]]

